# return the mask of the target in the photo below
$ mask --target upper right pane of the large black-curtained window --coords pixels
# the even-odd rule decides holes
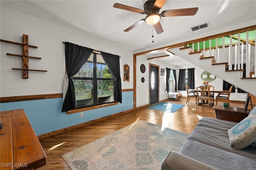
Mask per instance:
[[[108,66],[101,55],[97,55],[97,77],[98,78],[114,78],[110,73]]]

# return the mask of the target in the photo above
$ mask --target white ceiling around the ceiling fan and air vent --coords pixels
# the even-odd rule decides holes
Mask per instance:
[[[193,7],[198,7],[198,12],[194,16],[162,17],[160,22],[164,32],[161,34],[156,34],[155,30],[152,31],[152,26],[145,22],[129,32],[124,32],[123,30],[145,18],[146,14],[113,8],[114,3],[125,4],[143,10],[145,2],[146,0],[0,1],[1,5],[61,26],[93,34],[104,40],[124,45],[132,51],[170,42],[171,40],[195,36],[234,24],[251,20],[256,21],[256,0],[167,0],[160,12]],[[191,31],[191,27],[206,22],[210,24],[210,27],[194,32]],[[154,43],[152,43],[152,32]],[[172,59],[174,58],[172,57]]]

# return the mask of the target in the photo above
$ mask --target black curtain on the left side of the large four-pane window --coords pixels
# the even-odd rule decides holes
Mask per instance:
[[[66,75],[68,77],[68,90],[62,105],[62,112],[76,108],[76,96],[72,76],[74,76],[86,63],[93,49],[65,42]],[[64,96],[63,96],[64,97]]]

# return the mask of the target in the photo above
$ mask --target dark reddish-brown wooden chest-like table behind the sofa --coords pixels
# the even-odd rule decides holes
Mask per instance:
[[[251,109],[244,111],[244,108],[228,107],[226,109],[221,105],[212,107],[215,110],[216,118],[231,122],[240,122],[248,116]]]

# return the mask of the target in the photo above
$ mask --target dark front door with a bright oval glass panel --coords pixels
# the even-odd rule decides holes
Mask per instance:
[[[159,101],[159,67],[150,65],[150,77],[149,77],[149,87],[150,87],[150,105],[158,103]]]

